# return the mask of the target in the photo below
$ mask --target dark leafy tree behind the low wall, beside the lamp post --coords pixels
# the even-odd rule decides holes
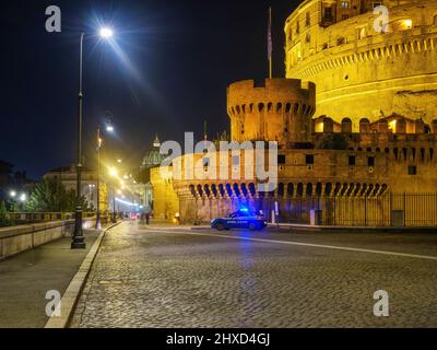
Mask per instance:
[[[82,207],[88,210],[88,205],[82,197]],[[75,192],[67,190],[57,178],[45,178],[38,183],[25,209],[39,212],[73,212],[75,208]]]

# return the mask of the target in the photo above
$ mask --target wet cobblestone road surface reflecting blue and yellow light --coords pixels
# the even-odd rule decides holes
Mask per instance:
[[[259,236],[275,242],[235,238]],[[356,237],[125,222],[107,234],[71,326],[437,327],[437,260],[281,243],[424,255],[437,246],[434,235]],[[389,317],[373,314],[377,290],[389,293]]]

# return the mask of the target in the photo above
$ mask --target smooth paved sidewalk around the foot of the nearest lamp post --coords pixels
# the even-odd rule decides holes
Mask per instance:
[[[63,295],[98,234],[84,231],[86,249],[63,237],[0,261],[0,328],[44,328],[47,291]]]

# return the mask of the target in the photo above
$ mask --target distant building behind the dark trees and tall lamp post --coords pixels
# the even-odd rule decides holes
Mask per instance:
[[[57,167],[43,176],[44,178],[56,178],[67,190],[76,190],[75,165]],[[93,208],[97,208],[97,172],[88,167],[82,167],[82,196]],[[104,180],[101,178],[101,211],[108,210],[108,191]]]

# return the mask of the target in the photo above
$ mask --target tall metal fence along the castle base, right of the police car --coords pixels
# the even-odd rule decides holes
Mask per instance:
[[[270,212],[274,208],[265,202],[263,207]],[[290,223],[309,224],[316,210],[322,225],[437,228],[437,194],[283,198],[279,208],[280,221]]]

